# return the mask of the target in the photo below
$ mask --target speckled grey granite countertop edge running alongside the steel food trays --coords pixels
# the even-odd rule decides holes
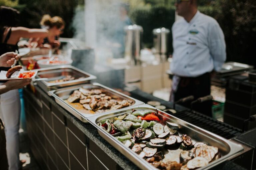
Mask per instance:
[[[24,90],[30,91],[28,88]],[[103,139],[99,134],[97,129],[89,124],[80,121],[78,118],[74,117],[59,104],[57,104],[53,97],[45,93],[40,87],[35,85],[35,90],[45,97],[51,105],[56,107],[63,115],[69,119],[77,128],[79,128],[90,140],[95,142],[106,154],[108,154],[120,167],[123,169],[139,169],[134,163],[128,160],[123,154],[121,154],[117,149],[115,149],[111,144],[109,144],[105,139]],[[31,92],[31,91],[30,91]],[[31,92],[32,93],[32,92]],[[32,95],[32,98],[36,96]],[[230,170],[230,169],[243,169],[242,167],[236,165],[231,161],[226,161],[222,165],[218,166],[219,170]],[[214,169],[214,168],[213,168]]]

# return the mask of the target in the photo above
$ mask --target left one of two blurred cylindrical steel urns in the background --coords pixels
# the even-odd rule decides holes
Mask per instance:
[[[140,63],[140,49],[142,41],[143,29],[139,25],[129,25],[124,27],[125,36],[125,58],[130,65],[138,65]]]

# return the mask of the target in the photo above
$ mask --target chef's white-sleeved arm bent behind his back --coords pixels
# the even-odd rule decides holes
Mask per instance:
[[[216,21],[209,25],[208,35],[209,49],[213,58],[214,70],[218,71],[226,61],[226,43],[224,34]]]

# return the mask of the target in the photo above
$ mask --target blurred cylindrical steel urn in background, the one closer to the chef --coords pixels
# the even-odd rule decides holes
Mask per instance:
[[[168,34],[170,33],[169,29],[164,27],[157,28],[153,30],[153,42],[155,48],[155,56],[159,62],[164,62],[167,59],[168,52]]]

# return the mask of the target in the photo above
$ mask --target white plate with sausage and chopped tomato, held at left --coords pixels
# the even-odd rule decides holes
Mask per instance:
[[[25,71],[21,65],[16,65],[10,68],[8,71],[0,72],[0,81],[4,80],[18,80],[24,78],[34,78],[37,71]]]

